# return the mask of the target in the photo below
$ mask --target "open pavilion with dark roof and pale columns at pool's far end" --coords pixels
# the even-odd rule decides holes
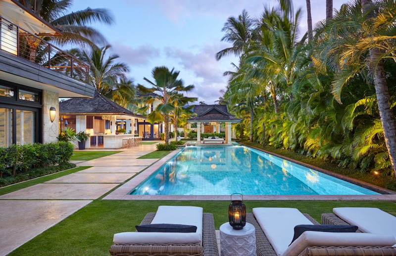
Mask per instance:
[[[194,105],[192,110],[197,116],[190,118],[188,122],[197,123],[197,144],[201,143],[201,131],[204,132],[205,123],[209,123],[216,132],[220,131],[221,123],[225,123],[225,144],[231,144],[231,126],[233,123],[241,123],[242,120],[228,113],[227,105]]]

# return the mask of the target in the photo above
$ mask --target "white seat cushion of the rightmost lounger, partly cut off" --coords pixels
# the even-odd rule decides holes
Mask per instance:
[[[340,207],[333,212],[366,233],[393,235],[396,238],[396,217],[378,208]]]

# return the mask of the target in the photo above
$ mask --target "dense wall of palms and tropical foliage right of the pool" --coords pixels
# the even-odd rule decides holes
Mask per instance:
[[[396,172],[396,1],[354,0],[298,33],[291,0],[258,19],[230,17],[217,53],[239,56],[221,100],[252,141],[337,162]],[[325,18],[326,16],[324,16]],[[265,136],[263,136],[265,127]]]

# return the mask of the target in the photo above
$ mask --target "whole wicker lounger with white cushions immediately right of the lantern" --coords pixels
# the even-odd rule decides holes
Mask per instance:
[[[396,256],[389,235],[306,231],[290,244],[296,224],[319,224],[297,209],[254,208],[247,222],[256,229],[258,256]]]

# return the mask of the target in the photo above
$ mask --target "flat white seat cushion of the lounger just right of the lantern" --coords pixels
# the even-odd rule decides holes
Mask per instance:
[[[253,208],[253,214],[277,255],[292,242],[296,225],[312,224],[295,208]]]

